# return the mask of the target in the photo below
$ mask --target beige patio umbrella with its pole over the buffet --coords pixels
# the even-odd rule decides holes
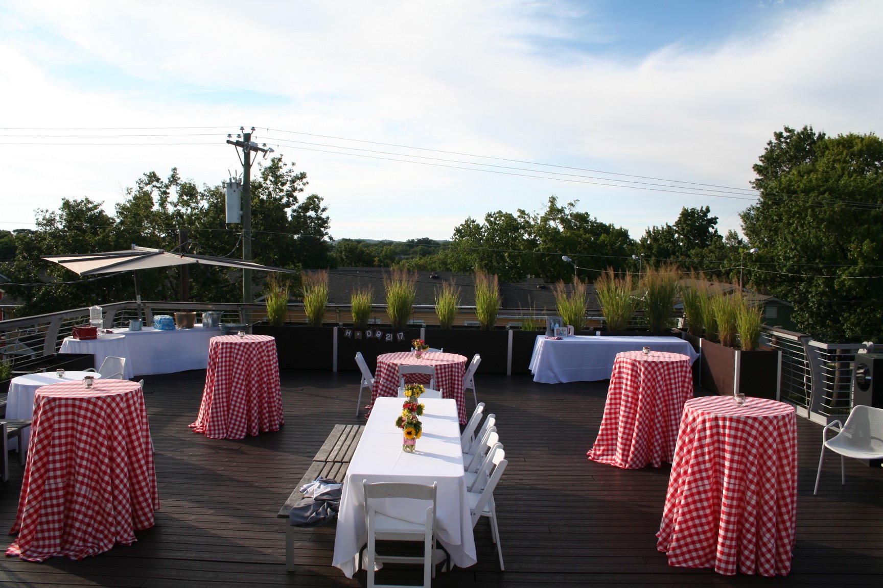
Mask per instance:
[[[135,299],[138,301],[138,317],[141,317],[141,294],[138,288],[138,270],[170,265],[206,264],[235,267],[241,270],[262,270],[264,272],[297,273],[298,270],[286,270],[282,267],[255,264],[251,261],[229,259],[227,257],[200,256],[192,253],[170,253],[164,249],[151,249],[132,245],[132,249],[108,251],[107,253],[74,253],[71,255],[43,256],[57,264],[64,265],[72,272],[81,276],[92,276],[98,273],[127,272],[132,270],[135,279]]]

